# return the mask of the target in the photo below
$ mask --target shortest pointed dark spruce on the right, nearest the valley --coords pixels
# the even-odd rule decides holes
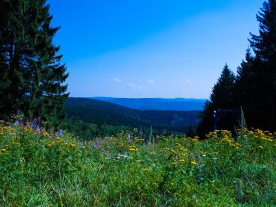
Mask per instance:
[[[197,126],[197,132],[201,139],[204,139],[208,132],[214,130],[214,110],[235,108],[235,101],[233,100],[234,87],[235,75],[226,64],[213,87],[210,101],[206,101],[204,111],[201,113],[201,122]],[[230,123],[226,127],[232,128],[233,124]]]

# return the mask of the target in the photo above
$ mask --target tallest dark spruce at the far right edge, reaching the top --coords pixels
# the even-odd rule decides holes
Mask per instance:
[[[259,35],[251,34],[255,53],[255,96],[253,126],[276,130],[276,1],[265,1],[257,14]]]

